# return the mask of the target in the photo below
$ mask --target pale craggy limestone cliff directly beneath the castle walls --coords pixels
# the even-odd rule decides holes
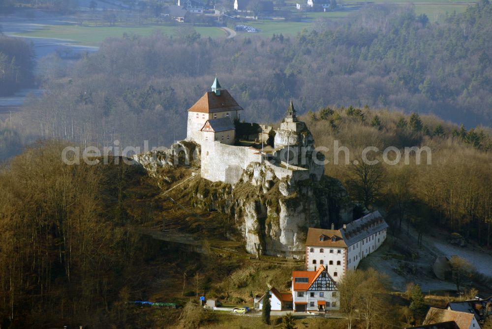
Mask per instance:
[[[201,180],[191,187],[190,197],[193,206],[233,217],[251,254],[260,248],[266,255],[302,258],[307,228],[352,219],[353,205],[337,180],[293,183],[260,163],[248,165],[234,189]]]

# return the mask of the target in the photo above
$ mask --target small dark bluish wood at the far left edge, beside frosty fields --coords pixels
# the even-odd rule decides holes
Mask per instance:
[[[33,83],[33,52],[28,42],[0,32],[0,96],[8,96]]]

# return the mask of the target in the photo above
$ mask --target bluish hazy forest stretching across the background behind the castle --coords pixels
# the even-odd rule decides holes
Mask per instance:
[[[248,121],[279,120],[292,97],[300,112],[367,104],[490,125],[491,13],[482,1],[431,24],[411,7],[374,5],[295,37],[220,40],[190,27],[107,39],[69,71],[43,66],[49,92],[23,109],[22,134],[168,145],[215,73]]]

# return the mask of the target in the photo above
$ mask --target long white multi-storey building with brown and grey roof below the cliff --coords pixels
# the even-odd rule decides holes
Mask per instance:
[[[386,239],[388,224],[379,211],[350,222],[339,230],[309,228],[306,239],[306,268],[315,271],[324,266],[338,281],[348,269],[374,252]]]

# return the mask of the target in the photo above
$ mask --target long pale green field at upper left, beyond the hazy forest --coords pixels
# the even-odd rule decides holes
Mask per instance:
[[[84,45],[99,45],[108,37],[122,37],[129,35],[149,35],[153,31],[160,31],[168,35],[179,33],[184,26],[155,25],[155,26],[78,26],[78,25],[44,25],[42,29],[32,32],[18,33],[20,36],[66,39],[80,42]],[[215,27],[195,27],[202,37],[225,37],[226,33]]]

